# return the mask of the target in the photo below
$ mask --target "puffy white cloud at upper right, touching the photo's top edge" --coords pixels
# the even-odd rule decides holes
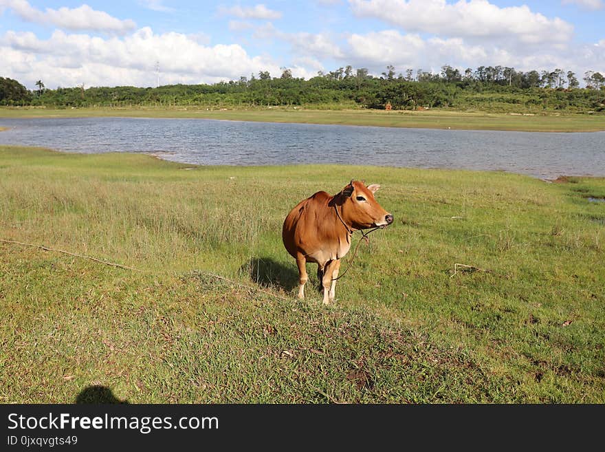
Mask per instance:
[[[529,7],[500,8],[487,0],[349,0],[358,17],[373,17],[404,28],[437,36],[467,39],[514,39],[522,43],[566,42],[573,25],[548,19]]]

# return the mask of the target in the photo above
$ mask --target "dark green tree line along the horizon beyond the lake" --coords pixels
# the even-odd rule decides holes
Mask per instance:
[[[380,76],[368,69],[339,67],[305,80],[282,68],[212,85],[159,87],[58,87],[46,89],[42,80],[28,90],[17,80],[0,77],[0,105],[47,107],[270,107],[426,109],[454,108],[487,111],[604,111],[605,77],[584,74],[585,87],[575,73],[563,69],[529,72],[513,67],[480,66],[464,72],[449,65],[433,74],[422,69],[395,72],[389,65]]]

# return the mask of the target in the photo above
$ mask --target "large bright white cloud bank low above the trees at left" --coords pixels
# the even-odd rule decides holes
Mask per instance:
[[[61,30],[49,39],[39,39],[30,32],[7,32],[0,36],[0,60],[3,76],[16,78],[28,87],[39,79],[50,88],[82,83],[155,86],[156,62],[161,84],[216,83],[261,70],[281,74],[281,65],[270,58],[250,56],[241,45],[210,47],[186,34],[154,34],[151,28],[108,39]],[[296,71],[303,73],[304,68]]]

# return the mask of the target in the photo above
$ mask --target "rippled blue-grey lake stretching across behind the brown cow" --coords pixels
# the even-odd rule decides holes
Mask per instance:
[[[0,118],[1,144],[153,153],[203,165],[337,163],[605,176],[605,132],[544,133],[205,119]]]

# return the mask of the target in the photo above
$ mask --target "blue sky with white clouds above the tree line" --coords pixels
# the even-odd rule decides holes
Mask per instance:
[[[217,83],[285,68],[605,74],[605,0],[0,0],[0,76],[36,89]]]

